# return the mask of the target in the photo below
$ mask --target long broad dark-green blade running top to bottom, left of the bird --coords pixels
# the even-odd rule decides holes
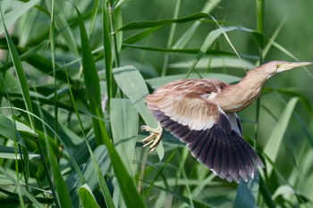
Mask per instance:
[[[84,48],[82,51],[82,65],[83,65],[83,75],[85,79],[86,89],[90,102],[90,111],[97,115],[98,118],[103,118],[103,112],[101,110],[101,100],[100,100],[100,88],[99,88],[99,79],[97,76],[96,64],[93,60],[90,48],[89,41],[87,37],[87,32],[82,20],[80,11],[77,7],[74,6],[76,12],[78,13],[79,22],[80,22],[80,38],[81,46]],[[114,168],[114,173],[116,179],[118,180],[119,186],[123,194],[124,202],[128,207],[145,207],[135,185],[133,179],[128,174],[123,165],[121,157],[117,154],[114,149],[113,144],[106,132],[106,125],[103,121],[98,119],[93,119],[94,123],[94,132],[97,137],[97,142],[100,144],[105,144],[107,151],[110,155],[112,165]],[[130,195],[131,193],[131,195]]]

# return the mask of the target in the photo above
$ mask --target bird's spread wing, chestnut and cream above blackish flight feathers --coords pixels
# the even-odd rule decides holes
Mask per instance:
[[[166,130],[187,143],[199,162],[220,178],[247,181],[257,172],[256,164],[263,167],[263,162],[243,140],[241,133],[232,128],[233,122],[224,111],[204,96],[217,93],[226,85],[210,80],[190,79],[185,86],[184,80],[180,80],[161,87],[146,97],[148,109]],[[204,87],[201,83],[210,84]],[[236,129],[241,129],[240,124]]]

